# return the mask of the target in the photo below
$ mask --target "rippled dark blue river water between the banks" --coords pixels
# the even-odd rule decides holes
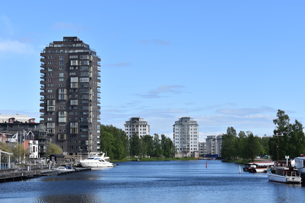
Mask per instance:
[[[0,183],[9,202],[303,202],[305,187],[221,160],[115,163],[112,168]],[[239,173],[239,166],[241,173]]]

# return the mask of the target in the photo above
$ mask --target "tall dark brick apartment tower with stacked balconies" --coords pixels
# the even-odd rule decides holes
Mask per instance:
[[[100,57],[78,37],[41,51],[40,123],[64,155],[100,152]]]

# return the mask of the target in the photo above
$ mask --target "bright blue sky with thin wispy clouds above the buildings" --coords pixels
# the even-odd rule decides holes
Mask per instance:
[[[0,112],[39,121],[40,53],[78,36],[101,57],[101,124],[142,117],[172,138],[232,126],[272,135],[278,109],[305,125],[304,1],[2,2]]]

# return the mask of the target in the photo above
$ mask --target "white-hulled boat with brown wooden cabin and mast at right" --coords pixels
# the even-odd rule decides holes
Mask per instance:
[[[268,168],[268,180],[277,183],[300,184],[302,182],[300,174],[291,166],[291,162],[288,161],[289,156],[285,158],[286,161],[274,161],[274,167]]]

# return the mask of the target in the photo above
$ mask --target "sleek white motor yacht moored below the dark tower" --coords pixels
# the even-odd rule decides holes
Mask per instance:
[[[79,163],[82,167],[113,167],[114,164],[108,161],[109,157],[105,157],[105,153],[89,156],[87,159],[81,160]]]

